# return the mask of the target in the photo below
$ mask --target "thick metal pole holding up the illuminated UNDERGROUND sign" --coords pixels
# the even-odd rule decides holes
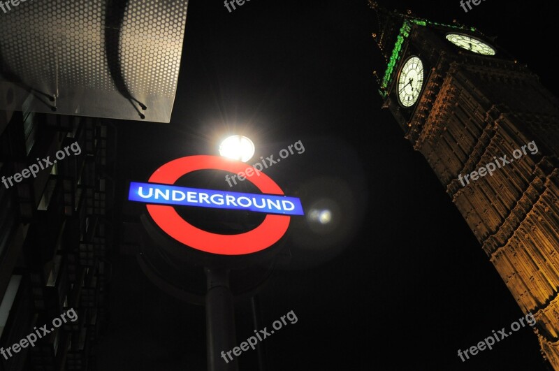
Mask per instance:
[[[229,271],[206,268],[205,274],[208,280],[208,291],[205,294],[208,371],[238,371],[237,357],[231,353],[236,347],[237,339],[233,293],[229,289]]]

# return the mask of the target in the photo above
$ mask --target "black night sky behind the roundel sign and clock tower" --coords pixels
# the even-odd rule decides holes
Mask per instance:
[[[410,4],[429,20],[498,36],[557,93],[551,8],[388,7]],[[263,326],[291,310],[298,322],[263,341],[266,370],[546,370],[528,328],[469,361],[457,356],[522,312],[426,160],[381,109],[375,27],[365,0],[251,0],[231,13],[222,1],[192,0],[170,124],[117,122],[118,203],[137,217],[124,201],[127,181],[177,157],[217,154],[226,132],[247,133],[263,156],[301,140],[305,152],[267,174],[307,210],[330,198],[337,224],[317,229],[293,217],[280,244],[291,260],[278,263],[259,300]],[[159,291],[133,256],[115,256],[110,293],[99,370],[205,370],[203,307]],[[249,308],[236,303],[238,343],[254,330]],[[240,356],[240,370],[256,370],[254,354]]]

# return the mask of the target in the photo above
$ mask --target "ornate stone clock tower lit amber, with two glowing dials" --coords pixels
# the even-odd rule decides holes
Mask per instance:
[[[533,314],[559,370],[559,100],[474,27],[370,6],[386,59],[375,72],[383,108]]]

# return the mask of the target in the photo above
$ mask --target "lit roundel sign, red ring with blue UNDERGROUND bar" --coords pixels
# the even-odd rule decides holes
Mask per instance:
[[[224,170],[241,173],[247,164],[218,156],[189,156],[170,161],[152,174],[147,183],[131,182],[129,200],[147,203],[155,224],[171,238],[203,252],[221,255],[251,254],[277,242],[287,231],[291,215],[303,215],[300,200],[286,197],[268,175],[254,168],[247,177],[262,194],[178,187],[173,184],[195,170]],[[266,212],[264,221],[252,231],[222,235],[203,231],[185,221],[177,205]]]

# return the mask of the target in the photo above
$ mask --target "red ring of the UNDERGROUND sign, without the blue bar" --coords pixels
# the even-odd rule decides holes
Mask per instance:
[[[232,161],[218,156],[189,156],[182,157],[161,166],[150,177],[148,182],[161,184],[175,184],[177,179],[194,170],[225,170],[238,174],[247,169],[247,164]],[[247,177],[264,194],[279,194],[284,192],[264,173],[260,176]],[[222,255],[241,255],[259,252],[275,244],[287,231],[291,217],[288,215],[268,214],[266,218],[252,231],[236,235],[220,235],[196,228],[182,219],[173,206],[147,205],[155,223],[165,233],[178,242],[203,252]]]

